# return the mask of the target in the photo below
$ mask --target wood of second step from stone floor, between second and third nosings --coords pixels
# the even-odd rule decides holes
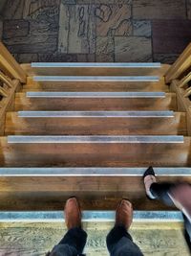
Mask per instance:
[[[28,78],[23,91],[103,91],[103,92],[141,92],[141,91],[164,91],[169,92],[169,86],[164,78],[159,81],[33,81]]]

